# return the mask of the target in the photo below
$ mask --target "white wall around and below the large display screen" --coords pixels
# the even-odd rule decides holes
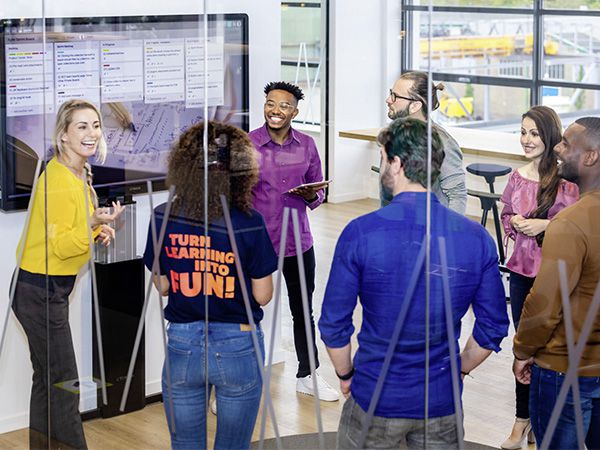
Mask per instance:
[[[281,18],[279,0],[209,0],[209,13],[241,12],[249,16],[250,36],[250,126],[263,122],[262,87],[279,78],[281,49]],[[145,0],[123,2],[72,2],[69,0],[47,1],[47,17],[90,17],[114,15],[151,14],[201,14],[202,1],[191,0]],[[0,18],[41,17],[42,2],[12,0],[0,2]],[[164,194],[163,194],[164,197]],[[145,244],[146,226],[149,220],[147,197],[138,199],[138,252]],[[158,204],[159,199],[155,199]],[[8,306],[8,286],[15,265],[15,250],[19,240],[25,213],[0,212],[0,327]],[[155,294],[154,294],[155,295]],[[153,297],[146,317],[146,394],[160,392],[160,371],[163,359],[160,334],[158,301]],[[80,376],[91,374],[91,293],[89,274],[85,271],[78,281],[71,298],[71,329],[75,341]],[[267,321],[264,328],[270,327]],[[0,330],[1,331],[1,330]],[[276,360],[281,359],[275,355]],[[0,357],[0,433],[28,426],[29,392],[31,379],[29,350],[20,325],[11,314],[7,327],[5,350]],[[94,395],[82,395],[82,410],[93,408]]]

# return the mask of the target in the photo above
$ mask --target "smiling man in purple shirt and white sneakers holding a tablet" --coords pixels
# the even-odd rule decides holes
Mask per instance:
[[[315,252],[308,224],[306,207],[315,209],[325,198],[323,187],[297,188],[305,183],[323,180],[321,160],[314,140],[291,127],[292,119],[298,114],[298,102],[304,98],[302,90],[283,81],[265,86],[265,124],[249,133],[249,137],[259,153],[260,173],[254,188],[254,208],[262,214],[267,224],[269,236],[275,251],[279,251],[283,209],[298,211],[300,237],[304,261],[304,279],[308,293],[310,326],[312,328],[315,364],[319,366],[317,347],[314,342],[315,323],[312,316],[312,294],[315,289]],[[300,293],[300,273],[296,256],[294,230],[290,223],[285,246],[283,277],[288,290],[292,320],[294,323],[294,345],[298,357],[296,391],[315,395],[310,373],[308,345],[302,296]],[[320,376],[317,378],[319,398],[336,401],[339,394]]]

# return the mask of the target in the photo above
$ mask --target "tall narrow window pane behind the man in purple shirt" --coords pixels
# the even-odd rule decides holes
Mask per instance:
[[[321,2],[281,2],[281,77],[299,85],[305,102],[296,122],[321,123]]]

